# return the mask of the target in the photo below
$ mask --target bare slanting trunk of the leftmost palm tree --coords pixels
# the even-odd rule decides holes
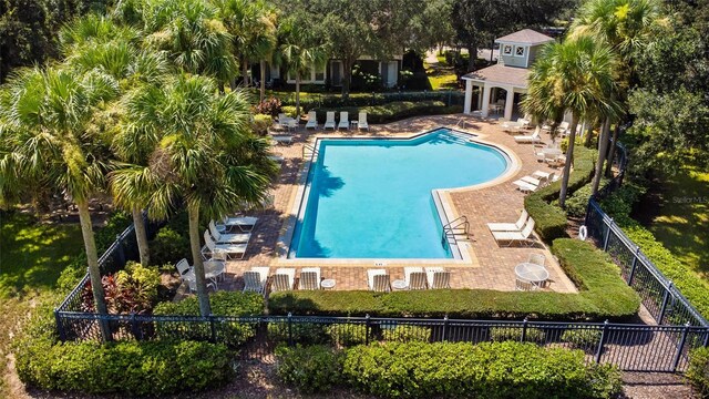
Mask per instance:
[[[79,223],[81,224],[81,235],[84,238],[84,249],[86,250],[86,263],[89,265],[89,278],[91,279],[91,290],[93,293],[93,301],[96,305],[95,309],[100,315],[107,315],[105,293],[103,290],[103,284],[101,283],[101,269],[99,268],[99,254],[96,252],[96,242],[93,236],[93,228],[91,226],[91,214],[89,213],[88,202],[78,202],[76,208],[79,209]],[[104,341],[110,341],[111,328],[109,323],[102,320],[99,323],[101,328],[101,335]]]

